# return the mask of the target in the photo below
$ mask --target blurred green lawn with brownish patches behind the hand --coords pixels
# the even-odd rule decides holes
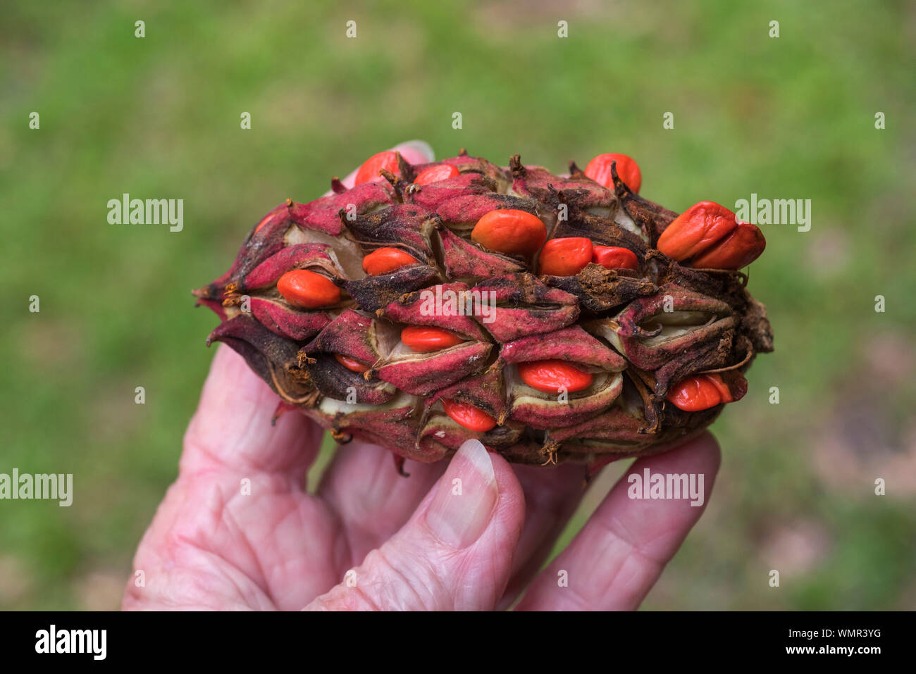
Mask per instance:
[[[276,203],[413,137],[555,170],[624,152],[677,211],[811,199],[810,232],[764,226],[750,285],[777,351],[716,425],[709,510],[645,605],[916,606],[916,5],[163,5],[5,5],[0,473],[76,494],[0,502],[0,607],[117,605],[212,356],[190,289]],[[123,192],[184,199],[184,231],[108,224]]]

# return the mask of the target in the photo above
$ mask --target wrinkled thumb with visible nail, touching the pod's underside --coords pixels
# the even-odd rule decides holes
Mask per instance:
[[[467,440],[404,525],[308,611],[488,611],[506,589],[525,496],[505,459]]]

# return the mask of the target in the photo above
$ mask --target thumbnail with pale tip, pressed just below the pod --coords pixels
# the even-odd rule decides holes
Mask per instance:
[[[426,524],[446,545],[467,548],[484,533],[497,494],[490,455],[479,440],[467,440],[442,475]]]

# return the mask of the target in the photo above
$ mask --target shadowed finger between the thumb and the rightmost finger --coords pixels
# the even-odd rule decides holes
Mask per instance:
[[[525,526],[512,560],[506,593],[497,604],[508,608],[531,582],[582,500],[583,466],[514,466],[525,493]]]

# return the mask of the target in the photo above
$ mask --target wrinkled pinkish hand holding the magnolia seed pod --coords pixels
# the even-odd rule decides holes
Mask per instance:
[[[309,494],[322,429],[296,413],[271,426],[277,402],[219,347],[178,479],[136,551],[145,582],[132,574],[125,609],[492,610],[526,588],[521,610],[635,609],[703,513],[686,500],[631,500],[625,475],[538,573],[583,497],[582,466],[510,465],[478,444],[451,462],[408,461],[406,479],[389,451],[354,441]],[[627,474],[703,473],[705,505],[719,461],[707,433]]]

